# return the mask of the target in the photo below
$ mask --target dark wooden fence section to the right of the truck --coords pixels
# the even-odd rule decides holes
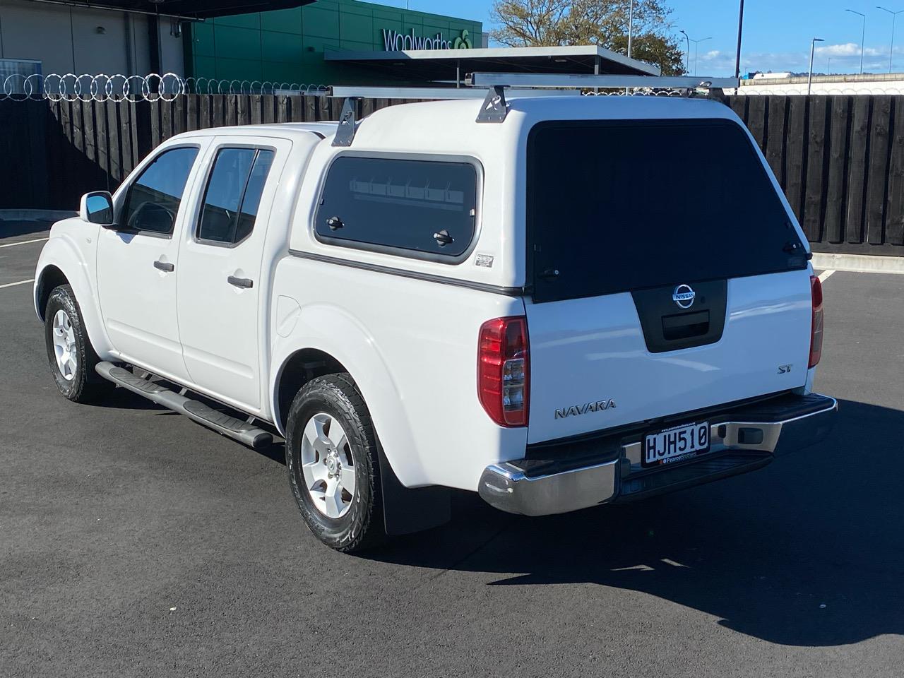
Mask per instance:
[[[904,255],[904,97],[742,96],[729,105],[814,250]],[[755,199],[743,187],[739,197]]]

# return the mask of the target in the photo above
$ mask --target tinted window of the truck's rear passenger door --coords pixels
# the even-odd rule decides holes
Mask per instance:
[[[235,243],[250,234],[272,162],[272,151],[222,148],[217,152],[204,193],[199,240]]]

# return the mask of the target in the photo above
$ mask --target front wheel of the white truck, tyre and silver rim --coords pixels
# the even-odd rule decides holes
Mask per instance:
[[[64,398],[89,402],[108,390],[108,382],[94,371],[100,360],[85,332],[79,302],[69,285],[54,288],[47,299],[44,340],[53,381]]]

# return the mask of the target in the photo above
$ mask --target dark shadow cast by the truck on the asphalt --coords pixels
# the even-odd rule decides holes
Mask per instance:
[[[491,586],[641,591],[781,645],[901,635],[904,411],[852,401],[839,409],[823,444],[747,476],[534,519],[463,495],[450,525],[368,557],[504,575]]]

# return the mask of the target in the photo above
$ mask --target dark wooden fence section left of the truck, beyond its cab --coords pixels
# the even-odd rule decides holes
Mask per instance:
[[[365,99],[358,115],[404,99]],[[188,94],[173,101],[0,101],[0,209],[78,209],[181,132],[337,120],[344,99]]]

